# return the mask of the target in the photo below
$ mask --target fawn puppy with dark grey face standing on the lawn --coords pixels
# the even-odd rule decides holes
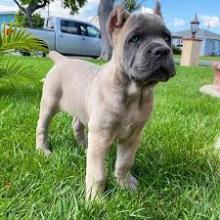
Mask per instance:
[[[130,15],[115,8],[108,22],[113,55],[107,64],[67,59],[51,52],[55,66],[45,78],[37,125],[37,149],[46,155],[48,126],[58,111],[72,115],[75,137],[85,143],[88,128],[86,197],[105,188],[105,157],[115,140],[115,176],[119,185],[135,189],[130,174],[141,132],[153,108],[153,89],[175,75],[171,34],[157,4],[154,14]]]

